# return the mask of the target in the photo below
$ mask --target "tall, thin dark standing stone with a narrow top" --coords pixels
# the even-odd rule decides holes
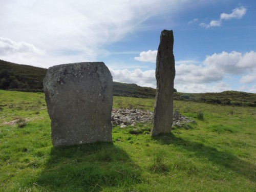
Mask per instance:
[[[170,133],[173,124],[175,60],[173,31],[163,30],[156,61],[156,103],[151,135]]]

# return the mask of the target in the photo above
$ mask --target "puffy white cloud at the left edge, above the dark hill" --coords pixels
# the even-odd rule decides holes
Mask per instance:
[[[18,53],[44,54],[44,51],[36,48],[33,44],[29,44],[28,42],[15,42],[9,38],[0,37],[0,55]]]

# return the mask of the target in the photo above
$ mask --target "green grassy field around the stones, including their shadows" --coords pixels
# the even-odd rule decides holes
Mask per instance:
[[[155,138],[151,124],[116,126],[113,143],[54,148],[44,94],[0,90],[0,191],[255,191],[256,108],[174,105],[197,124]],[[154,99],[113,107],[152,111]]]

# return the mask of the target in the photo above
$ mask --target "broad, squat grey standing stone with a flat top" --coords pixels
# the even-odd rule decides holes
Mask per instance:
[[[55,147],[112,142],[113,80],[103,62],[51,67],[44,91]]]

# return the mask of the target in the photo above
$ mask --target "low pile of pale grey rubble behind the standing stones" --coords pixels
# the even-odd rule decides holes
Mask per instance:
[[[127,125],[135,126],[136,123],[152,123],[153,112],[142,111],[138,109],[112,109],[111,123],[113,125],[119,125],[120,127],[126,127]],[[181,127],[186,123],[196,123],[192,118],[187,118],[174,111],[173,126]]]

